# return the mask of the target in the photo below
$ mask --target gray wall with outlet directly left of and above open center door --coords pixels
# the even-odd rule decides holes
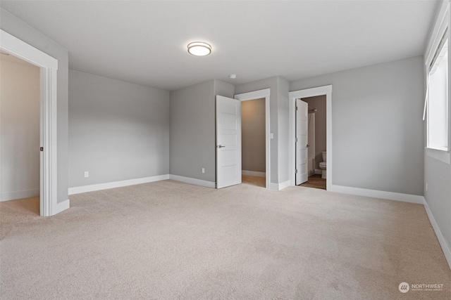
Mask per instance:
[[[216,95],[233,93],[216,79],[171,91],[171,174],[216,182]]]

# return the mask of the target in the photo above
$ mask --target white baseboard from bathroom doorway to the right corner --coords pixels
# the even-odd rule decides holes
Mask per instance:
[[[335,193],[382,198],[387,200],[411,202],[416,204],[423,204],[424,199],[423,196],[419,195],[385,192],[383,190],[367,190],[365,188],[350,188],[349,186],[342,185],[332,185],[331,191]]]

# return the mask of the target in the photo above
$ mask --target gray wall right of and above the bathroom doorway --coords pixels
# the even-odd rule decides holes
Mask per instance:
[[[333,185],[423,195],[423,56],[290,83],[333,84]]]

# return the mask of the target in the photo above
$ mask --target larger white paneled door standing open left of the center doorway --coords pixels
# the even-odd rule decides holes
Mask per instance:
[[[241,101],[216,96],[216,188],[241,183]]]

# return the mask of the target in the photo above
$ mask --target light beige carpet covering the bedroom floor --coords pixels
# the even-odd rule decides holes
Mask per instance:
[[[177,181],[73,195],[47,218],[20,201],[0,203],[1,299],[451,299],[419,204]]]

